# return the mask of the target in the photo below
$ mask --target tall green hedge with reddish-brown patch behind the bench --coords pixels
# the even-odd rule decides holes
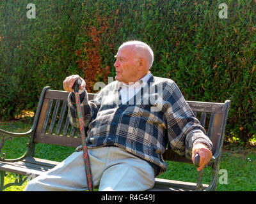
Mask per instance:
[[[127,40],[154,50],[152,73],[172,78],[185,98],[232,101],[227,136],[256,132],[256,2],[177,0],[0,1],[0,115],[35,110],[42,88],[62,89],[68,75],[95,82],[114,77]],[[219,18],[219,4],[228,18]]]

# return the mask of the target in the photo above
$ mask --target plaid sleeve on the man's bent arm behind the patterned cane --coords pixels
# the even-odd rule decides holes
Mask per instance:
[[[88,93],[84,89],[81,93],[79,93],[79,98],[81,102],[81,110],[83,117],[84,128],[88,128],[88,124],[95,119],[97,112],[100,107],[100,95],[97,95],[95,99],[92,101],[88,100]],[[74,92],[70,92],[68,94],[68,117],[70,120],[70,124],[74,126],[74,128],[79,128],[79,119],[76,110],[76,99]]]

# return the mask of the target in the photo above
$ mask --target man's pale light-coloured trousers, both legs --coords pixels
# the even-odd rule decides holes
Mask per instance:
[[[154,169],[118,147],[88,149],[93,187],[99,191],[145,191],[154,186]],[[88,190],[83,151],[28,182],[24,191]]]

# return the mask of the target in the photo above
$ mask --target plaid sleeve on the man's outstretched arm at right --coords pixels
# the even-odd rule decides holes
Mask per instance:
[[[167,100],[170,106],[166,111],[166,120],[168,140],[172,150],[188,159],[191,159],[192,148],[196,143],[205,143],[211,150],[211,140],[186,103],[179,87],[173,82],[168,89],[170,94]]]

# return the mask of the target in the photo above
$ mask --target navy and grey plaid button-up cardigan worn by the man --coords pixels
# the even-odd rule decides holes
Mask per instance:
[[[88,100],[80,94],[88,149],[115,145],[141,159],[167,169],[163,161],[168,142],[173,151],[191,159],[192,147],[202,142],[212,148],[211,140],[195,118],[179,87],[170,79],[151,76],[127,104],[120,98],[120,82],[115,81]],[[70,123],[79,128],[74,92],[68,95]]]

